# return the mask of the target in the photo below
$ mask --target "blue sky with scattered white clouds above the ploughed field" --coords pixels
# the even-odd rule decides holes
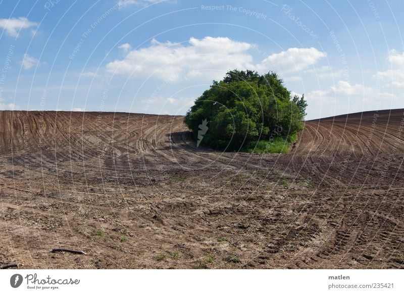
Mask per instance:
[[[232,69],[307,120],[404,108],[403,1],[0,0],[0,110],[184,115]]]

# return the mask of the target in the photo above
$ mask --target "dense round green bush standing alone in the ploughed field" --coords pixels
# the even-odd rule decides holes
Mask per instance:
[[[289,143],[303,129],[306,107],[304,97],[290,97],[276,73],[233,70],[222,81],[213,81],[210,89],[196,99],[185,123],[197,146],[287,152]],[[267,148],[268,144],[273,147]],[[254,149],[254,145],[259,148]]]

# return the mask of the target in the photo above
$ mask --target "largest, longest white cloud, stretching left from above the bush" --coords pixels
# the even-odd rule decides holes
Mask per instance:
[[[252,57],[246,53],[250,47],[226,37],[190,38],[188,45],[154,39],[149,47],[131,51],[123,60],[107,64],[107,70],[143,78],[151,74],[164,80],[179,76],[204,76],[212,80],[223,77],[229,69],[252,68]]]

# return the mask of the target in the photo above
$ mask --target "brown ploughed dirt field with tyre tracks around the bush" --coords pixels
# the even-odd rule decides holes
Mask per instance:
[[[403,119],[308,121],[259,155],[196,150],[179,116],[2,111],[0,265],[404,268]]]

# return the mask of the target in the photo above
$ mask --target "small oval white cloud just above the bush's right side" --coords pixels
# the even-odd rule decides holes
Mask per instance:
[[[314,47],[289,48],[268,56],[257,65],[257,70],[259,72],[274,70],[281,75],[282,73],[298,72],[313,66],[323,57],[326,57],[326,54]]]

